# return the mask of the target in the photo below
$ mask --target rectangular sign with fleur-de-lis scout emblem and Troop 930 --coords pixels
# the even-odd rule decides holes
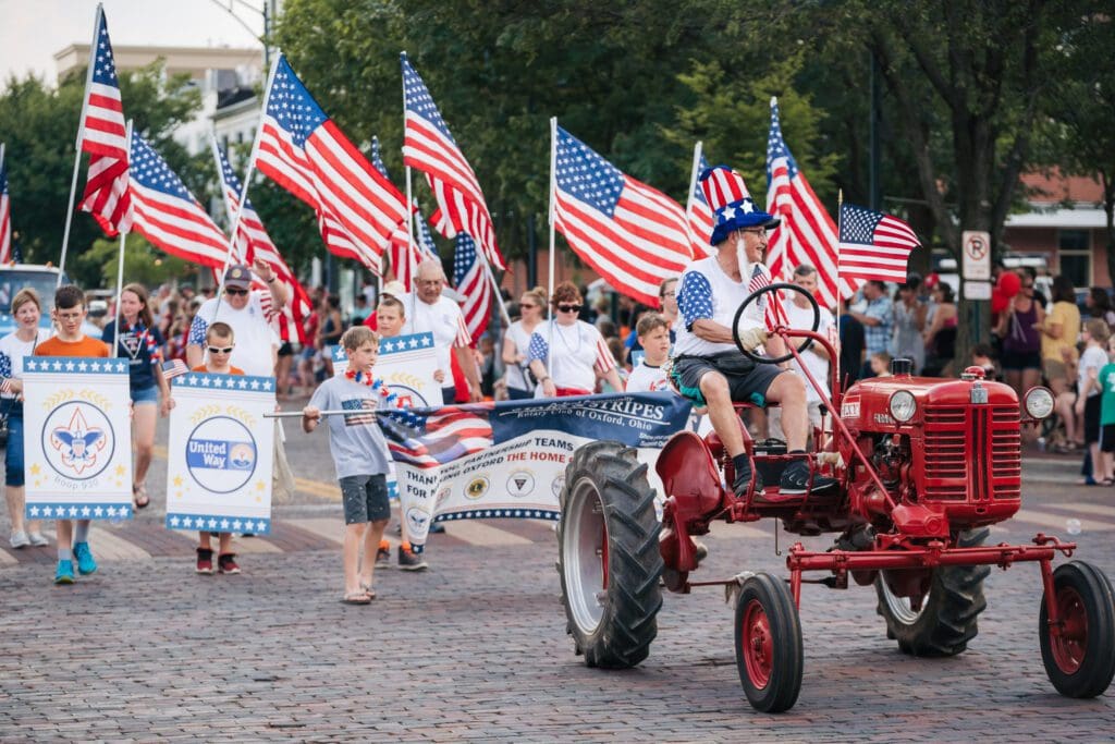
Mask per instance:
[[[126,359],[23,358],[28,519],[132,516]]]

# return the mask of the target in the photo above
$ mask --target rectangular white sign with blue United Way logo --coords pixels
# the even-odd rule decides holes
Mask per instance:
[[[271,531],[274,377],[174,378],[166,450],[166,529]]]

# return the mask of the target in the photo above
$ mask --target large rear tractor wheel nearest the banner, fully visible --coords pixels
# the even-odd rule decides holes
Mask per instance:
[[[565,468],[558,571],[568,631],[590,666],[626,669],[650,653],[662,606],[655,492],[619,442],[593,442]]]

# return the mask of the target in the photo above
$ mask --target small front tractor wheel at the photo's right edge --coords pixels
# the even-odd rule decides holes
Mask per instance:
[[[1115,676],[1115,599],[1103,571],[1073,561],[1053,572],[1058,635],[1049,628],[1046,598],[1041,597],[1038,635],[1041,661],[1057,692],[1068,697],[1102,695]]]

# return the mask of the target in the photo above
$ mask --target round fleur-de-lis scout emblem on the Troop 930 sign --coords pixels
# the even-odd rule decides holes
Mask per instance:
[[[62,477],[88,481],[100,475],[116,452],[116,433],[104,410],[86,400],[64,403],[47,415],[42,453]]]

